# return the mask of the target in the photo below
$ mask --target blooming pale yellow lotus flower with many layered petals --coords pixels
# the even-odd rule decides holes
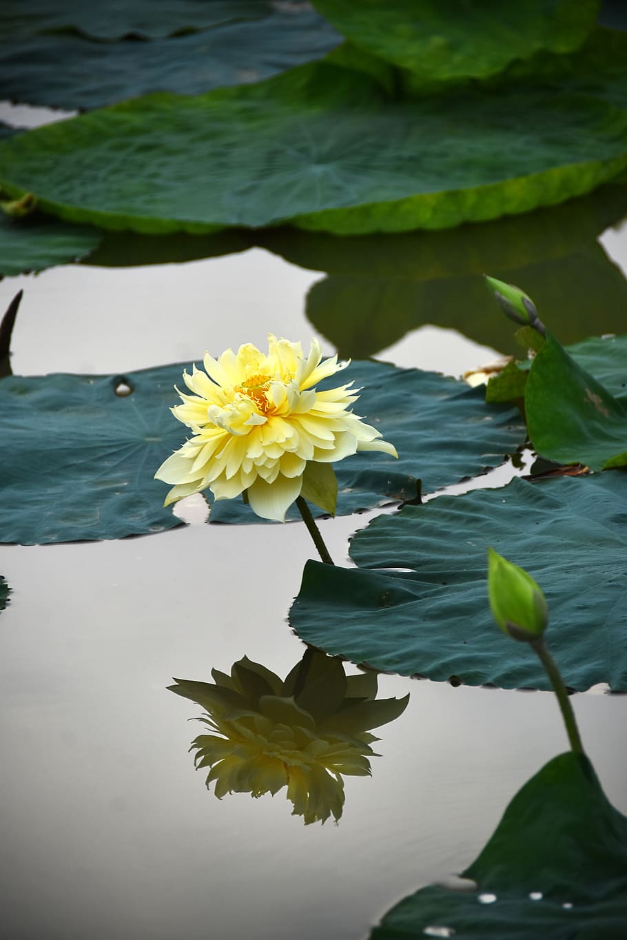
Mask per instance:
[[[250,343],[194,366],[183,380],[175,417],[193,431],[162,463],[155,478],[174,486],[165,506],[209,487],[215,499],[246,493],[264,519],[285,521],[301,494],[308,462],[330,463],[358,450],[398,457],[379,431],[353,415],[353,383],[318,392],[313,386],[343,365],[337,356],[321,361],[316,340],[305,358],[300,343],[269,338],[266,355]],[[177,391],[179,391],[177,389]]]

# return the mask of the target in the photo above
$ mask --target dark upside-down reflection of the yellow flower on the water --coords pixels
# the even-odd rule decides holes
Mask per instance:
[[[261,796],[287,787],[292,816],[305,823],[338,820],[344,806],[343,775],[370,776],[367,729],[397,718],[409,695],[375,701],[374,673],[346,676],[338,659],[306,650],[283,682],[245,656],[230,676],[212,669],[214,683],[176,679],[169,688],[207,712],[199,721],[196,768],[209,767],[215,795]]]

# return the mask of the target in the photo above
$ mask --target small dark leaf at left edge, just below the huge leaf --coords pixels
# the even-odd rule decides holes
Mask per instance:
[[[39,214],[11,219],[0,213],[0,277],[67,264],[93,251],[101,237],[91,226],[66,225]]]

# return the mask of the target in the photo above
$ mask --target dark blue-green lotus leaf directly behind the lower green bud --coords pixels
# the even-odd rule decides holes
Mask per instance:
[[[306,643],[384,671],[546,689],[533,651],[492,619],[492,545],[544,591],[564,681],[627,691],[626,519],[621,471],[406,506],[353,537],[358,570],[307,562],[290,622]]]

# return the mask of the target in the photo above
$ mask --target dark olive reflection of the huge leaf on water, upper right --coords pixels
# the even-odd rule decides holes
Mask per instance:
[[[309,290],[306,314],[341,355],[375,355],[425,323],[520,355],[480,275],[525,285],[562,342],[592,329],[622,332],[627,280],[597,236],[625,211],[627,186],[610,185],[552,209],[444,231],[352,238],[278,227],[257,241],[329,274]]]

